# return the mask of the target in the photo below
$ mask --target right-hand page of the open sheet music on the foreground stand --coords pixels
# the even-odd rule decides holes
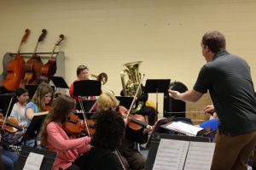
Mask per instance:
[[[210,170],[215,143],[190,142],[184,170]]]

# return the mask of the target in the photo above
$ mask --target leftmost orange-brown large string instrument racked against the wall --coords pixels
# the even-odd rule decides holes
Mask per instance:
[[[7,76],[3,80],[3,87],[8,89],[9,91],[15,90],[15,88],[19,87],[20,80],[24,77],[25,74],[25,60],[20,55],[20,48],[24,42],[26,42],[26,38],[29,36],[30,30],[26,29],[24,36],[21,39],[20,46],[18,48],[15,59],[9,60],[7,64]]]

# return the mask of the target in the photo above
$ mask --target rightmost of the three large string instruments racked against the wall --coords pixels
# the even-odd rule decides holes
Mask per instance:
[[[48,62],[43,65],[41,69],[41,77],[40,80],[44,82],[49,82],[49,77],[52,77],[55,75],[57,66],[56,66],[56,58],[53,56],[55,53],[55,48],[61,44],[61,41],[64,39],[64,35],[60,35],[60,39],[55,43],[55,47],[53,48],[50,58]]]

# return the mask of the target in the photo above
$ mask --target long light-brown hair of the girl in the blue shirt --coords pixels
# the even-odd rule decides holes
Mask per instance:
[[[32,97],[32,102],[35,103],[38,106],[39,112],[45,111],[45,101],[44,101],[44,96],[45,94],[51,94],[52,97],[50,99],[50,102],[53,99],[53,89],[47,84],[46,82],[42,82],[36,91],[36,93]]]

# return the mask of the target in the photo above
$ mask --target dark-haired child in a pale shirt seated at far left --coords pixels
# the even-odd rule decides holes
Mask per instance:
[[[15,119],[20,122],[21,127],[27,127],[25,107],[29,99],[28,91],[25,88],[17,88],[15,94],[18,101],[13,106],[10,116],[15,117]]]

